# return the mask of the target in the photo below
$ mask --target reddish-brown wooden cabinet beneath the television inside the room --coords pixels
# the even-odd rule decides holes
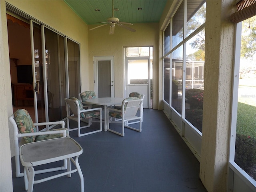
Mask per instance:
[[[18,106],[18,100],[22,100],[24,105],[25,100],[34,100],[34,89],[31,84],[14,84],[14,101],[15,106]]]

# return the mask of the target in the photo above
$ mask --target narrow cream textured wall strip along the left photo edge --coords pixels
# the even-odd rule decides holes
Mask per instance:
[[[11,76],[5,1],[0,1],[0,191],[12,191],[8,116],[12,113]]]

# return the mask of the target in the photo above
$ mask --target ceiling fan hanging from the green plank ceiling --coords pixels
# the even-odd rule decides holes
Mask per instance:
[[[118,9],[117,9],[118,10]],[[121,22],[119,21],[118,18],[114,17],[114,1],[112,0],[112,17],[108,18],[106,22],[100,22],[100,23],[105,23],[103,25],[100,25],[100,26],[97,26],[97,27],[94,27],[94,28],[91,28],[89,30],[94,30],[96,28],[99,28],[99,27],[102,27],[102,26],[105,26],[105,25],[108,25],[110,24],[110,29],[109,29],[109,34],[112,35],[114,34],[114,30],[115,30],[115,26],[120,26],[122,28],[125,28],[131,32],[136,32],[135,29],[132,29],[124,24],[127,24],[127,25],[133,25],[131,23],[127,23],[127,22]]]

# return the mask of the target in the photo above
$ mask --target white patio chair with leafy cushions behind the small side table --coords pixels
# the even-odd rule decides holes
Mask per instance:
[[[65,126],[64,121],[33,123],[28,111],[25,109],[18,109],[8,119],[13,126],[16,177],[24,176],[24,173],[21,172],[20,170],[20,153],[19,153],[20,146],[29,142],[37,142],[41,140],[47,140],[47,139],[58,138],[58,137],[66,137],[66,136],[69,137],[68,129],[64,128]],[[61,125],[62,128],[38,132],[36,126],[45,126],[45,125]],[[66,169],[67,169],[67,161],[64,160],[63,166],[48,168],[44,170],[37,170],[35,171],[35,174],[58,171],[58,170],[66,170]]]

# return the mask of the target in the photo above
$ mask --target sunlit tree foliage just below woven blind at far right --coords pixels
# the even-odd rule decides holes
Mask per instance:
[[[241,36],[241,57],[252,60],[255,54],[256,54],[256,16],[251,17],[242,22],[242,36]]]

